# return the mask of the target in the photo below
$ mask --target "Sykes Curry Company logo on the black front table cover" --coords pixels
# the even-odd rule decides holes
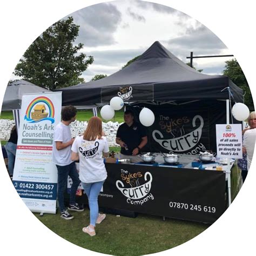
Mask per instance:
[[[152,193],[150,193],[152,183],[150,172],[146,172],[144,175],[141,172],[130,173],[121,169],[121,178],[124,182],[117,180],[116,186],[127,198],[128,204],[143,205],[149,200],[154,200]]]

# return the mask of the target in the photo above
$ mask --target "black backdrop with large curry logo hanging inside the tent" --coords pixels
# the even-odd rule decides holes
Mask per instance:
[[[148,143],[143,152],[173,152],[199,154],[216,152],[216,124],[226,124],[226,102],[221,100],[197,101],[181,105],[129,106],[139,121],[141,107],[154,113],[154,123],[147,127]],[[234,123],[238,123],[233,120]]]

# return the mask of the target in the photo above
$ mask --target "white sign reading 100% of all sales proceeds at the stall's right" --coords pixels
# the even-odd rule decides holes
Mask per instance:
[[[220,158],[242,158],[242,125],[216,125],[217,156]]]

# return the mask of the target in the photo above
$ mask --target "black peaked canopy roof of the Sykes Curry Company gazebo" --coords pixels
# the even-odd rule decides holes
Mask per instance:
[[[132,102],[170,102],[229,99],[243,102],[242,90],[226,76],[210,76],[192,69],[154,42],[136,61],[96,81],[58,89],[63,105],[109,102],[114,96]],[[226,89],[226,90],[224,90]]]

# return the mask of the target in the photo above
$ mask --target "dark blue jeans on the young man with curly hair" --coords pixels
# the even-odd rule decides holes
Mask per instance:
[[[76,169],[75,162],[69,165],[60,166],[56,165],[58,170],[58,183],[57,183],[57,194],[60,211],[66,210],[64,205],[64,192],[67,188],[68,176],[72,179],[72,185],[70,190],[70,204],[73,205],[76,202],[77,187],[80,184],[79,175]]]

